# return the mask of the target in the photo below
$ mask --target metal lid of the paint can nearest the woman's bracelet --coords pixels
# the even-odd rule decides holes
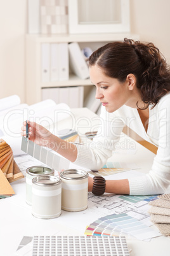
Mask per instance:
[[[82,180],[88,178],[89,174],[81,169],[68,169],[60,173],[60,178],[66,180]]]

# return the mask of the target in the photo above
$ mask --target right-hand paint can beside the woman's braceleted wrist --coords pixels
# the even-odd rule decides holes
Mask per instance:
[[[88,207],[88,176],[81,169],[68,169],[60,173],[62,210],[82,211]]]

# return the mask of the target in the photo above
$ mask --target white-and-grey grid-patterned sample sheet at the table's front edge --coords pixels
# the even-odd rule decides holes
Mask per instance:
[[[34,236],[32,256],[129,256],[124,237]]]

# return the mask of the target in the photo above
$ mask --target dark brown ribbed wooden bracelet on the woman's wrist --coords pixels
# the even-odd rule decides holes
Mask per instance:
[[[101,196],[105,193],[106,180],[101,176],[95,176],[93,178],[92,193],[95,196]]]

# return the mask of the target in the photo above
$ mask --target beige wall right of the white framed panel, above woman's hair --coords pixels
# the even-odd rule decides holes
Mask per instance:
[[[141,41],[152,41],[170,64],[170,1],[130,0],[131,32]]]

